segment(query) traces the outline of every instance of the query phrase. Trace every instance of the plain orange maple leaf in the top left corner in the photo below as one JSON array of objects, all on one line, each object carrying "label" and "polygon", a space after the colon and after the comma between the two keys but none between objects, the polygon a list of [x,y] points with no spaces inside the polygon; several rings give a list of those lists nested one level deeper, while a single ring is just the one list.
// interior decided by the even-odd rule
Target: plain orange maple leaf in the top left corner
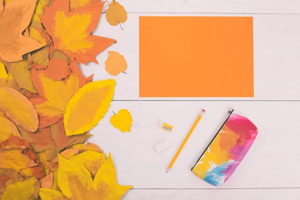
[{"label": "plain orange maple leaf in the top left corner", "polygon": [[8,62],[22,60],[22,55],[44,44],[22,35],[28,26],[36,0],[13,0],[3,7],[0,0],[0,57]]}]

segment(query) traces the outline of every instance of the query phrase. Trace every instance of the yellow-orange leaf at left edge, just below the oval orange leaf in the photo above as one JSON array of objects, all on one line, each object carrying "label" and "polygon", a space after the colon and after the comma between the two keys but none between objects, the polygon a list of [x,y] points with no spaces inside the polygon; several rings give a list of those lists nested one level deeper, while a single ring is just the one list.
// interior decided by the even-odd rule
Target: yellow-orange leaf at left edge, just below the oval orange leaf
[{"label": "yellow-orange leaf at left edge, just below the oval orange leaf", "polygon": [[8,139],[10,136],[21,138],[16,126],[4,116],[0,116],[0,142]]}]

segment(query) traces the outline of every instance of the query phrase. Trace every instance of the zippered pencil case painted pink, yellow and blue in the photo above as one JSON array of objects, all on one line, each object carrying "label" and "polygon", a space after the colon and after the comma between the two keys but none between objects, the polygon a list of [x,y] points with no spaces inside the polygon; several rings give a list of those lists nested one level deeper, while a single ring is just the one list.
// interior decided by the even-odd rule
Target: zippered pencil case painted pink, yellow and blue
[{"label": "zippered pencil case painted pink, yellow and blue", "polygon": [[220,186],[234,172],[257,135],[257,127],[232,110],[191,171],[206,182]]}]

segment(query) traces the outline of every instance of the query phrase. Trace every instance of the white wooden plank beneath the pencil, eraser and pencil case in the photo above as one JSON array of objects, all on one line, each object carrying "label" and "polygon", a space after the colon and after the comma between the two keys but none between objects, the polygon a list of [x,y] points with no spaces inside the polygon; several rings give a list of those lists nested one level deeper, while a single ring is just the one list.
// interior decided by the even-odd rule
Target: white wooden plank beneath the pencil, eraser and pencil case
[{"label": "white wooden plank beneath the pencil, eraser and pencil case", "polygon": [[[134,120],[132,133],[109,124],[113,112],[126,108]],[[206,113],[196,126],[172,169],[168,162],[201,108]],[[221,188],[300,187],[300,102],[286,101],[113,101],[105,117],[91,130],[90,142],[111,152],[118,182],[135,188],[215,188],[190,168],[227,116],[235,108],[258,127],[257,138],[233,175]],[[158,125],[174,126],[169,133]],[[172,147],[158,154],[154,142],[166,138]]]}]

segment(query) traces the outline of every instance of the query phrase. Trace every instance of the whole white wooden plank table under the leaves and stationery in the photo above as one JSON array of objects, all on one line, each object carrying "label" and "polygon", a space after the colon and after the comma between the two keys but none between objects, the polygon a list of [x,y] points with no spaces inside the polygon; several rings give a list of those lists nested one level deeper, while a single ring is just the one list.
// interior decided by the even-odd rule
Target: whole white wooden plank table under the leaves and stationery
[{"label": "whole white wooden plank table under the leaves and stationery", "polygon": [[[127,60],[127,74],[110,76],[99,65],[81,66],[94,80],[115,78],[117,85],[105,117],[91,131],[91,142],[111,152],[120,184],[132,184],[123,199],[299,199],[300,197],[300,0],[119,0],[127,21],[110,26],[104,14],[94,34],[117,43]],[[107,6],[107,5],[106,5]],[[138,16],[253,16],[253,98],[139,98]],[[121,133],[109,118],[131,112],[132,133]],[[172,169],[166,166],[201,108],[206,109]],[[219,128],[230,108],[258,127],[257,138],[233,175],[221,187],[196,177],[190,168]],[[169,122],[174,131],[160,130]],[[172,147],[158,154],[152,144],[167,138]]]}]

